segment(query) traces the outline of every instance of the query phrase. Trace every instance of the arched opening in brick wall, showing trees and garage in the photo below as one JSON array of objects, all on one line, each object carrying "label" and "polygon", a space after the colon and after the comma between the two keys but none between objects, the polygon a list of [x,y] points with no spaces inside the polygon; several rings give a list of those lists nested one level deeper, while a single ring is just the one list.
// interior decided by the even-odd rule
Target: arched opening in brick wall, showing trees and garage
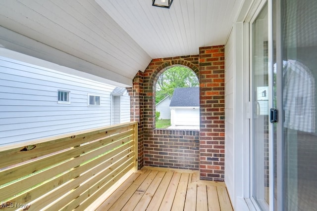
[{"label": "arched opening in brick wall, showing trees and garage", "polygon": [[167,67],[155,89],[156,128],[199,129],[199,80],[194,71]]}]

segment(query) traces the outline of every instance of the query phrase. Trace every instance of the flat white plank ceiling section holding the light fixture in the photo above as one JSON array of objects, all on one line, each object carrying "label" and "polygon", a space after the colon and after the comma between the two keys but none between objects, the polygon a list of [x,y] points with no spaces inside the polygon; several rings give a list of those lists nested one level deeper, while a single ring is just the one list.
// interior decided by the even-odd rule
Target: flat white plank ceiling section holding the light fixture
[{"label": "flat white plank ceiling section holding the light fixture", "polygon": [[96,0],[152,58],[195,55],[224,44],[241,0],[174,0],[169,9],[151,0]]}]

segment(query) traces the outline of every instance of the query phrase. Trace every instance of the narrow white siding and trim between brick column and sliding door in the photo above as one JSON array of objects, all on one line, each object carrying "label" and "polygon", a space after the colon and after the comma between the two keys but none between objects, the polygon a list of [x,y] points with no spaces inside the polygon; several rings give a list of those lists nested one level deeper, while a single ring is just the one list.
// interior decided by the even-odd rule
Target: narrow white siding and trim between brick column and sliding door
[{"label": "narrow white siding and trim between brick column and sliding door", "polygon": [[[246,112],[250,110],[248,76],[243,68],[243,23],[236,23],[225,44],[225,178],[226,187],[234,210],[248,210],[244,191],[249,185],[246,181],[245,159],[249,120]],[[239,96],[239,97],[236,97]],[[244,137],[244,134],[246,135]]]}]

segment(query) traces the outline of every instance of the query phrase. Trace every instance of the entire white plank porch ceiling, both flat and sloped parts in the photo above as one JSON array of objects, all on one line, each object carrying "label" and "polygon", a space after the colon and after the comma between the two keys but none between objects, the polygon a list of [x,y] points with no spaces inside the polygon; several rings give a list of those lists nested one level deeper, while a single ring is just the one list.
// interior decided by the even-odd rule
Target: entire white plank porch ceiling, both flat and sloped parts
[{"label": "entire white plank porch ceiling, both flat and sloped parts", "polygon": [[1,0],[0,44],[131,85],[152,58],[224,44],[242,1]]}]

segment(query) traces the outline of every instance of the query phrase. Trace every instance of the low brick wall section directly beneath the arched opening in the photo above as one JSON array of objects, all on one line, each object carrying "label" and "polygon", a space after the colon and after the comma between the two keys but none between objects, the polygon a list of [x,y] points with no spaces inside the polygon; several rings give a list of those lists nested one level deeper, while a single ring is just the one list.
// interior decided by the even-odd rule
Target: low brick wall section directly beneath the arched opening
[{"label": "low brick wall section directly beneath the arched opening", "polygon": [[144,138],[144,164],[199,169],[199,131],[154,129]]}]

